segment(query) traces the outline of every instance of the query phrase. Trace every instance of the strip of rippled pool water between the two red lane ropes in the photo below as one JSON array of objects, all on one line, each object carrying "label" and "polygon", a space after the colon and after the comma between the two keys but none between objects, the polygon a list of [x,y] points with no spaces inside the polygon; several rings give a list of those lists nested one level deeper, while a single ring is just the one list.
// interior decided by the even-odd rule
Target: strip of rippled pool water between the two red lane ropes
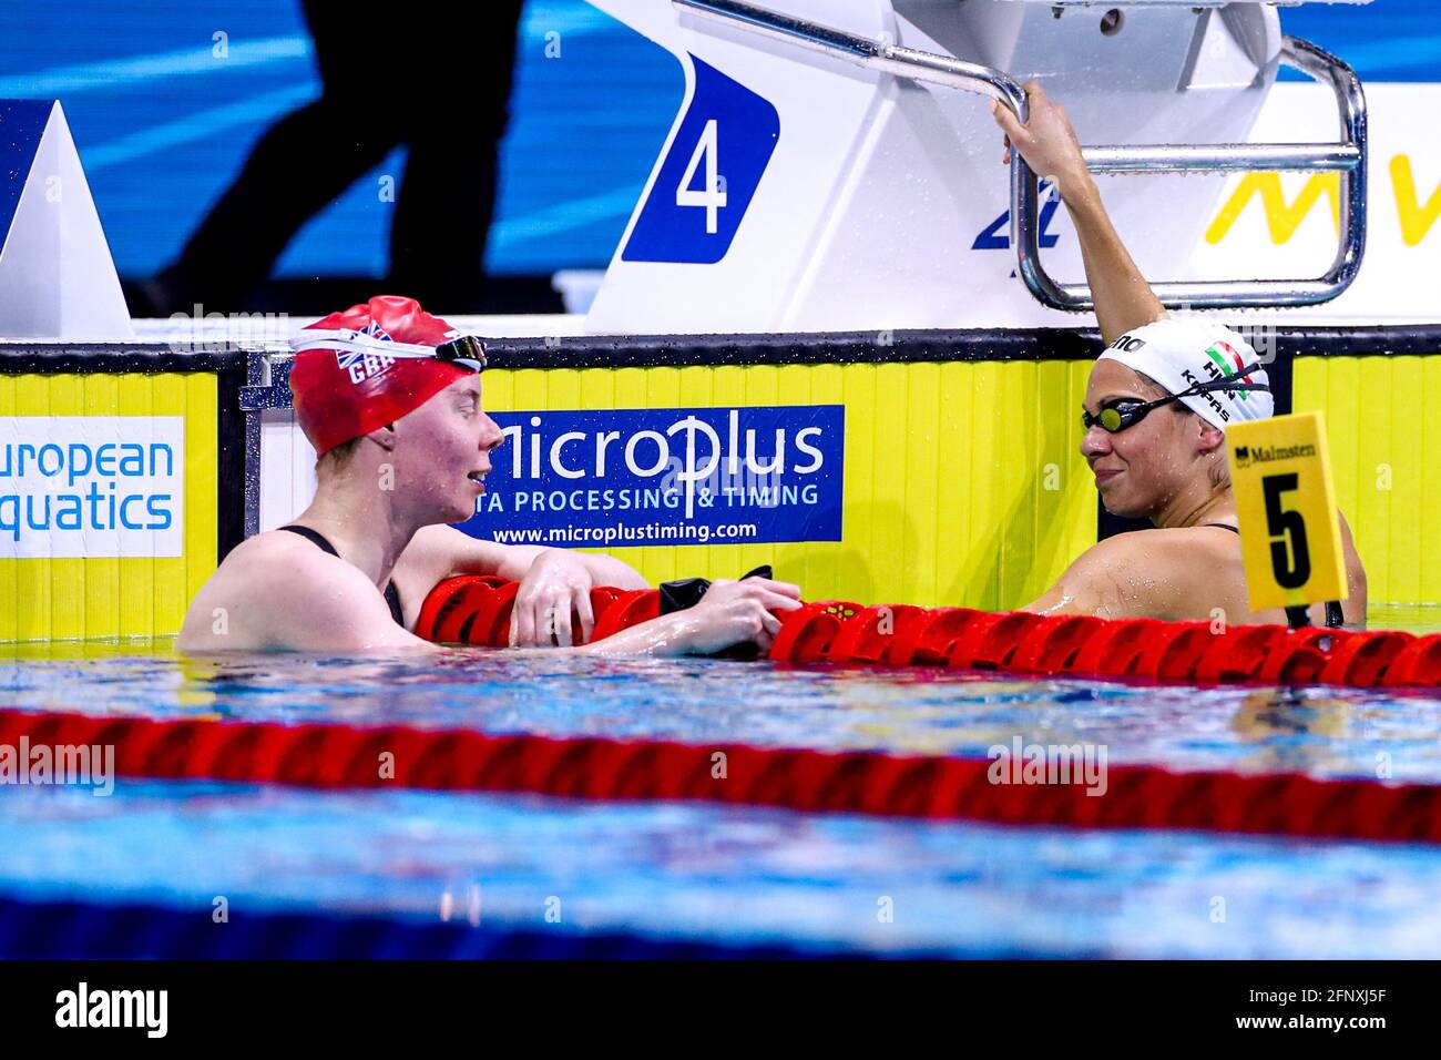
[{"label": "strip of rippled pool water between the two red lane ropes", "polygon": [[[46,653],[61,658],[36,658]],[[1102,744],[1114,764],[1441,782],[1435,694],[559,652],[184,662],[160,643],[146,653],[56,645],[27,655],[0,659],[0,705],[981,757],[1019,736]]]}]

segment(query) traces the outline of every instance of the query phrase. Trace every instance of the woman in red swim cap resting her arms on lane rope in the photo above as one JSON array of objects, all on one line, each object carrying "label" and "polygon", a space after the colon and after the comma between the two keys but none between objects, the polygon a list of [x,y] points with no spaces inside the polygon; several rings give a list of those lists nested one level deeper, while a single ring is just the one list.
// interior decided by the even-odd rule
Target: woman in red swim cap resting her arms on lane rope
[{"label": "woman in red swim cap resting her arms on lane rope", "polygon": [[769,646],[772,611],[800,590],[767,578],[716,581],[695,607],[589,645],[592,586],[644,588],[604,555],[478,541],[468,519],[500,428],[481,411],[484,349],[411,299],[382,296],[305,329],[290,385],[316,447],[316,498],[290,526],[238,545],[190,604],[177,648],[441,650],[411,633],[444,578],[520,583],[512,643],[601,653],[708,653]]}]

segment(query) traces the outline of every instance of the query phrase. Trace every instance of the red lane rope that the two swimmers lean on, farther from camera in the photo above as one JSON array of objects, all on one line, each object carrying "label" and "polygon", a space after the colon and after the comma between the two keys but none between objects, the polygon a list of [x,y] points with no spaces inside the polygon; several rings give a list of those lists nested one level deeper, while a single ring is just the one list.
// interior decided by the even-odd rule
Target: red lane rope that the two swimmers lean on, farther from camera
[{"label": "red lane rope that the two swimmers lean on, farther from camera", "polygon": [[[504,646],[516,586],[458,577],[437,586],[415,632],[442,643]],[[595,640],[656,617],[657,590],[591,590]],[[951,666],[1012,673],[1150,678],[1183,684],[1441,688],[1441,633],[1290,630],[1205,622],[1091,619],[967,607],[813,603],[781,616],[771,659]]]}]

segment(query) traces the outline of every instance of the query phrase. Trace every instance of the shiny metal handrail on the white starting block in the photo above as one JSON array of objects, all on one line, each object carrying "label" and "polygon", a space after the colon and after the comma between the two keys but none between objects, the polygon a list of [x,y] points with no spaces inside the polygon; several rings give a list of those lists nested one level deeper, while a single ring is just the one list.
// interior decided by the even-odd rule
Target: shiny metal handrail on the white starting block
[{"label": "shiny metal handrail on the white starting block", "polygon": [[[947,55],[919,52],[856,36],[830,26],[757,7],[745,0],[672,0],[695,14],[821,52],[866,69],[924,81],[999,100],[1022,123],[1029,121],[1026,92],[1004,71]],[[1235,173],[1339,172],[1340,247],[1330,270],[1317,280],[1213,280],[1151,284],[1170,307],[1246,309],[1316,306],[1350,287],[1366,252],[1366,97],[1355,71],[1316,45],[1284,37],[1278,61],[1329,84],[1336,95],[1343,140],[1320,144],[1143,144],[1082,149],[1095,173]],[[1020,151],[1012,151],[1010,241],[1016,270],[1030,293],[1050,309],[1094,309],[1085,284],[1059,284],[1040,264],[1036,175]]]}]

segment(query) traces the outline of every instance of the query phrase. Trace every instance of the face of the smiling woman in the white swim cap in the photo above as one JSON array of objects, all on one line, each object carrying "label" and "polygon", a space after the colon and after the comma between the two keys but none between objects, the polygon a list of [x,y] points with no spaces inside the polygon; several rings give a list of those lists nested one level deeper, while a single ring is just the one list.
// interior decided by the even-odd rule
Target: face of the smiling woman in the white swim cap
[{"label": "face of the smiling woman in the white swim cap", "polygon": [[[1095,417],[1115,401],[1146,404],[1166,392],[1125,365],[1102,359],[1091,369],[1085,412]],[[1081,440],[1101,503],[1112,515],[1159,512],[1200,469],[1219,457],[1225,436],[1179,402],[1157,407],[1117,433],[1094,423]]]}]

